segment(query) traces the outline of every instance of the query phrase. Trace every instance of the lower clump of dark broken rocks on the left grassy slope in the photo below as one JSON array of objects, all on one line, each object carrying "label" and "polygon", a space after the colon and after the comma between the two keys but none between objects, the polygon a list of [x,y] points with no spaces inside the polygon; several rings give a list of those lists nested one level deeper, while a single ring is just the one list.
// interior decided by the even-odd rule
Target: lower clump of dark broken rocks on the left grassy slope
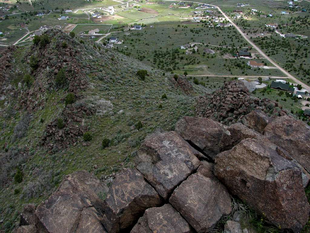
[{"label": "lower clump of dark broken rocks on the left grassy slope", "polygon": [[[83,118],[95,113],[95,106],[82,101],[66,105],[59,118],[47,124],[41,143],[49,147],[50,153],[55,147],[59,149],[76,143],[77,138],[88,130],[82,124]],[[62,127],[59,126],[59,119],[63,121]]]}]

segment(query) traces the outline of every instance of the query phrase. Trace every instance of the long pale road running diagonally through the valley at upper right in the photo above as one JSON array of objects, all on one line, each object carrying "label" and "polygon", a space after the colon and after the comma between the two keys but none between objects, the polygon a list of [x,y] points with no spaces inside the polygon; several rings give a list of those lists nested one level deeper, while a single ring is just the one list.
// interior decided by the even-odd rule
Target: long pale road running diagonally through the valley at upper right
[{"label": "long pale road running diagonally through the valley at upper right", "polygon": [[[169,1],[169,2],[179,2],[177,0],[163,0],[163,1]],[[183,1],[183,2],[191,2],[191,1]],[[202,2],[194,2],[194,3],[198,3],[198,4],[204,4]],[[237,31],[242,35],[242,37],[253,47],[255,48],[261,55],[263,55],[263,57],[265,57],[270,63],[272,63],[272,65],[276,66],[282,73],[284,73],[285,75],[287,75],[288,78],[290,78],[291,80],[293,80],[295,83],[302,85],[305,89],[307,89],[308,91],[310,91],[310,86],[307,84],[304,84],[303,82],[299,81],[298,79],[296,79],[293,75],[291,75],[289,72],[287,72],[285,69],[283,69],[281,66],[279,66],[276,62],[274,62],[271,58],[269,58],[258,46],[256,46],[255,43],[253,43],[249,38],[246,37],[245,34],[243,34],[243,32],[241,31],[241,29],[233,22],[230,20],[230,18],[228,18],[228,16],[221,10],[221,8],[219,8],[218,6],[215,5],[211,5],[210,6],[216,7],[219,12],[221,12],[221,14],[225,17],[226,20],[228,20],[236,29]],[[207,76],[207,75],[206,75]]]}]

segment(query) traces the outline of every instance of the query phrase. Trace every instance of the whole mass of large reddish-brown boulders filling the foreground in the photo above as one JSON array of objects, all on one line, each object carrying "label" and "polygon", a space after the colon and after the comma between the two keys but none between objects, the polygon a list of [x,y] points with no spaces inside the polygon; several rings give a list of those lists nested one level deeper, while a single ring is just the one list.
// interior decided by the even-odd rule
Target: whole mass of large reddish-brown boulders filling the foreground
[{"label": "whole mass of large reddish-brown boulders filling the foreground", "polygon": [[25,206],[20,233],[205,233],[233,216],[224,232],[241,229],[232,197],[281,230],[308,222],[310,127],[254,110],[225,126],[183,117],[175,131],[146,137],[135,168],[109,185],[86,171],[61,182],[37,207]]}]

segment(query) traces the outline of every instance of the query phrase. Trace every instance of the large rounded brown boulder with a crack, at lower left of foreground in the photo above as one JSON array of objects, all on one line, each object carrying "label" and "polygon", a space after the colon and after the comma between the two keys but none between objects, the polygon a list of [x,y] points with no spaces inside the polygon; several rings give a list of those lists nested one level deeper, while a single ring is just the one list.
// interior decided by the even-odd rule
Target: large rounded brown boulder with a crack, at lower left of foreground
[{"label": "large rounded brown boulder with a crack, at lower left of foreground", "polygon": [[[40,228],[48,233],[99,232],[92,228],[101,224],[101,214],[94,207],[104,209],[104,201],[97,195],[107,191],[100,180],[86,171],[68,175],[55,193],[37,207]],[[87,220],[91,226],[83,231],[80,221],[86,218],[86,212],[93,214]]]}]

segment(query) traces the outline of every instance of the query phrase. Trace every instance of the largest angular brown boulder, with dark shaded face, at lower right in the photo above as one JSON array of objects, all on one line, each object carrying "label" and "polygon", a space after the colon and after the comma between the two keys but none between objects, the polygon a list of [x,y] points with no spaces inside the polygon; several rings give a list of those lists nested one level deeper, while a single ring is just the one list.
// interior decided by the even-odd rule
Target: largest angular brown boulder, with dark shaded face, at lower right
[{"label": "largest angular brown boulder, with dark shaded face, at lower right", "polygon": [[242,140],[215,159],[215,175],[275,226],[299,232],[308,221],[309,204],[302,172],[281,156],[276,145]]}]

